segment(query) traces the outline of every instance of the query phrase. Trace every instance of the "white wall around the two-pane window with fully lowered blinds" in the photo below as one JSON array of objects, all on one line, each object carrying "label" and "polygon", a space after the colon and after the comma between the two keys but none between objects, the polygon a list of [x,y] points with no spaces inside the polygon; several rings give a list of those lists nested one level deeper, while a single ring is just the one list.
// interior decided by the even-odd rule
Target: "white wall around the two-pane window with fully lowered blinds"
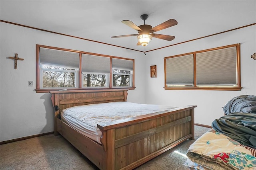
[{"label": "white wall around the two-pane window with fully lowered blinds", "polygon": [[[197,105],[195,123],[211,125],[214,119],[223,115],[222,106],[231,98],[243,94],[256,95],[256,60],[250,57],[256,52],[255,30],[256,25],[148,53],[146,103],[171,106]],[[236,43],[241,44],[241,91],[164,90],[164,57]],[[157,78],[150,78],[150,65],[155,64]]]}]

